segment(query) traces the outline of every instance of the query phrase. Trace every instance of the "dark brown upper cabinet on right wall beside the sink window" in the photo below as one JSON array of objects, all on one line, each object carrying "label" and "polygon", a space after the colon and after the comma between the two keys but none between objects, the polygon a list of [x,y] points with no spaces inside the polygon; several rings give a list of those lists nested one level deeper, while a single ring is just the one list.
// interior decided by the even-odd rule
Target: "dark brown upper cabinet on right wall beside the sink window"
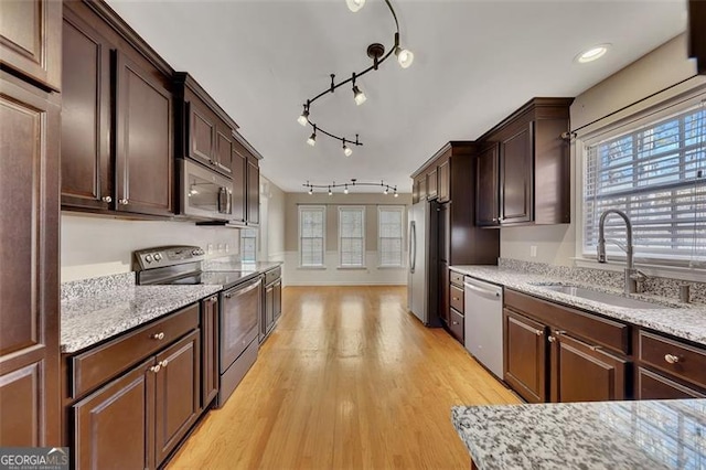
[{"label": "dark brown upper cabinet on right wall beside the sink window", "polygon": [[569,145],[561,133],[569,130],[573,100],[534,98],[481,138],[489,150],[479,162],[478,225],[570,222]]}]

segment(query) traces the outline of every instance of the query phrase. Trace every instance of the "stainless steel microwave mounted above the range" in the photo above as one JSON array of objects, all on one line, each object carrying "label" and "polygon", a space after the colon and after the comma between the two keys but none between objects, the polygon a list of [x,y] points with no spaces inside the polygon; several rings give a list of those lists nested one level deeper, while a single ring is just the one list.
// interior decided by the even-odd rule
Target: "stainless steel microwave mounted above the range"
[{"label": "stainless steel microwave mounted above the range", "polygon": [[233,181],[185,159],[179,159],[180,211],[199,218],[229,221],[233,217]]}]

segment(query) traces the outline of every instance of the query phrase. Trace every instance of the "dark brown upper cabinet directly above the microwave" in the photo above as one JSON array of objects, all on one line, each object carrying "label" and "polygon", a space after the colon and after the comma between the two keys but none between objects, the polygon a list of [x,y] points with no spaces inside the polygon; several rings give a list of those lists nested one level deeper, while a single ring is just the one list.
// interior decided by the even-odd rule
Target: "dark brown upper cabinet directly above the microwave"
[{"label": "dark brown upper cabinet directly above the microwave", "polygon": [[237,171],[233,160],[233,132],[238,128],[237,124],[188,73],[174,74],[174,85],[180,130],[176,154],[226,177],[233,175]]}]

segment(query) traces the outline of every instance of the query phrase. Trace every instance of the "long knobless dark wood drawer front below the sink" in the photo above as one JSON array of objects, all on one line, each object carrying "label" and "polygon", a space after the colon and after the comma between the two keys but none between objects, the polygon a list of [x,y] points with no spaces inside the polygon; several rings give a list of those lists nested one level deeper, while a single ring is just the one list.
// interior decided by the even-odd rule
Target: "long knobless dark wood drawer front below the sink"
[{"label": "long knobless dark wood drawer front below the sink", "polygon": [[630,354],[630,327],[592,313],[537,299],[512,289],[505,289],[505,307],[522,312],[548,325],[571,332],[613,351]]}]

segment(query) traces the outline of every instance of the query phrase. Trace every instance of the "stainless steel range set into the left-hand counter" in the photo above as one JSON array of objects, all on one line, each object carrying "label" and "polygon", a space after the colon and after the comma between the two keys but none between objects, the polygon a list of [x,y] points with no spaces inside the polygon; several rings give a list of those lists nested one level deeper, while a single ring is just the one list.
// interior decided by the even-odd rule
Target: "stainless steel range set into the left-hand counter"
[{"label": "stainless steel range set into the left-hand counter", "polygon": [[263,277],[257,271],[203,271],[199,246],[159,246],[132,254],[138,285],[222,285],[218,312],[221,407],[257,359]]}]

